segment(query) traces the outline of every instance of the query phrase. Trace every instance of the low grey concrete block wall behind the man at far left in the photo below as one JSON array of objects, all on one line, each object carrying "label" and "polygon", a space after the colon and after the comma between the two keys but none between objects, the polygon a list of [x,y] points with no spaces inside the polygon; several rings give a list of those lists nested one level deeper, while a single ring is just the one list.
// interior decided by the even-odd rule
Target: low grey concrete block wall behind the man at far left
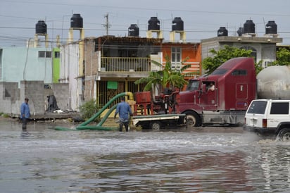
[{"label": "low grey concrete block wall behind the man at far left", "polygon": [[0,82],[0,112],[20,116],[20,105],[25,97],[30,99],[30,113],[41,118],[46,114],[47,96],[54,95],[61,110],[71,110],[69,106],[68,83],[55,83],[51,89],[44,88],[43,81]]}]

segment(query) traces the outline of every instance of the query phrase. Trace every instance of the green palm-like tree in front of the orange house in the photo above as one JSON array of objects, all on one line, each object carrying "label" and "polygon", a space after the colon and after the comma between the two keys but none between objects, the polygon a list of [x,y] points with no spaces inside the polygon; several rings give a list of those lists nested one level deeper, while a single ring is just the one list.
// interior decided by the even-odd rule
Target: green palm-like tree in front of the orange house
[{"label": "green palm-like tree in front of the orange house", "polygon": [[181,88],[184,85],[187,85],[187,80],[184,80],[185,75],[193,74],[193,73],[183,73],[184,70],[190,68],[191,65],[187,64],[184,65],[189,58],[185,58],[182,61],[182,68],[172,68],[172,63],[170,61],[169,56],[165,56],[165,66],[157,61],[151,61],[152,63],[156,64],[157,66],[163,68],[162,70],[158,70],[157,72],[151,71],[148,77],[142,77],[139,80],[136,80],[134,83],[139,85],[141,83],[147,83],[144,87],[144,91],[149,91],[152,87],[156,85],[160,85],[163,88],[165,87],[177,87]]}]

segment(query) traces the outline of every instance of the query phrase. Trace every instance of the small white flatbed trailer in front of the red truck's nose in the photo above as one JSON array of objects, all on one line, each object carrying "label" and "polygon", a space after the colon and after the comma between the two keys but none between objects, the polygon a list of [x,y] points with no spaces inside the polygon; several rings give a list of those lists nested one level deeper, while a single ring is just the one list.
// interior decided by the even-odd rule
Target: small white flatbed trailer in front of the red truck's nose
[{"label": "small white flatbed trailer in front of the red truck's nose", "polygon": [[149,116],[133,116],[132,123],[145,129],[160,130],[162,127],[185,125],[185,114],[158,114]]}]

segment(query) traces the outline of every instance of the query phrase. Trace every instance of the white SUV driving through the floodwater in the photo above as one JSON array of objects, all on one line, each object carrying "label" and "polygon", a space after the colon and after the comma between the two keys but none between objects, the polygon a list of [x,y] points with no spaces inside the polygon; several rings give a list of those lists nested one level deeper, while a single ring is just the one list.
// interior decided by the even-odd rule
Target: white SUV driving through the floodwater
[{"label": "white SUV driving through the floodwater", "polygon": [[282,141],[290,141],[290,100],[253,100],[246,111],[244,128],[261,134],[274,133]]}]

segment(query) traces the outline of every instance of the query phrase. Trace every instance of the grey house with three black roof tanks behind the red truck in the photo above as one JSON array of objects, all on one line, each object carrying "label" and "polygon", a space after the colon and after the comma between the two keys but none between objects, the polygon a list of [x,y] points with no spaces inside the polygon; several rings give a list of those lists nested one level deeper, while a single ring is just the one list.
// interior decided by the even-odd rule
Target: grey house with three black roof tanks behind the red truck
[{"label": "grey house with three black roof tanks behind the red truck", "polygon": [[277,24],[269,21],[265,26],[265,35],[258,37],[253,20],[246,20],[244,27],[240,27],[236,36],[229,36],[226,27],[217,30],[217,37],[201,39],[202,59],[211,56],[210,49],[219,50],[223,46],[234,46],[240,49],[252,50],[256,63],[263,61],[262,66],[276,60],[277,44],[282,38],[277,34]]}]

